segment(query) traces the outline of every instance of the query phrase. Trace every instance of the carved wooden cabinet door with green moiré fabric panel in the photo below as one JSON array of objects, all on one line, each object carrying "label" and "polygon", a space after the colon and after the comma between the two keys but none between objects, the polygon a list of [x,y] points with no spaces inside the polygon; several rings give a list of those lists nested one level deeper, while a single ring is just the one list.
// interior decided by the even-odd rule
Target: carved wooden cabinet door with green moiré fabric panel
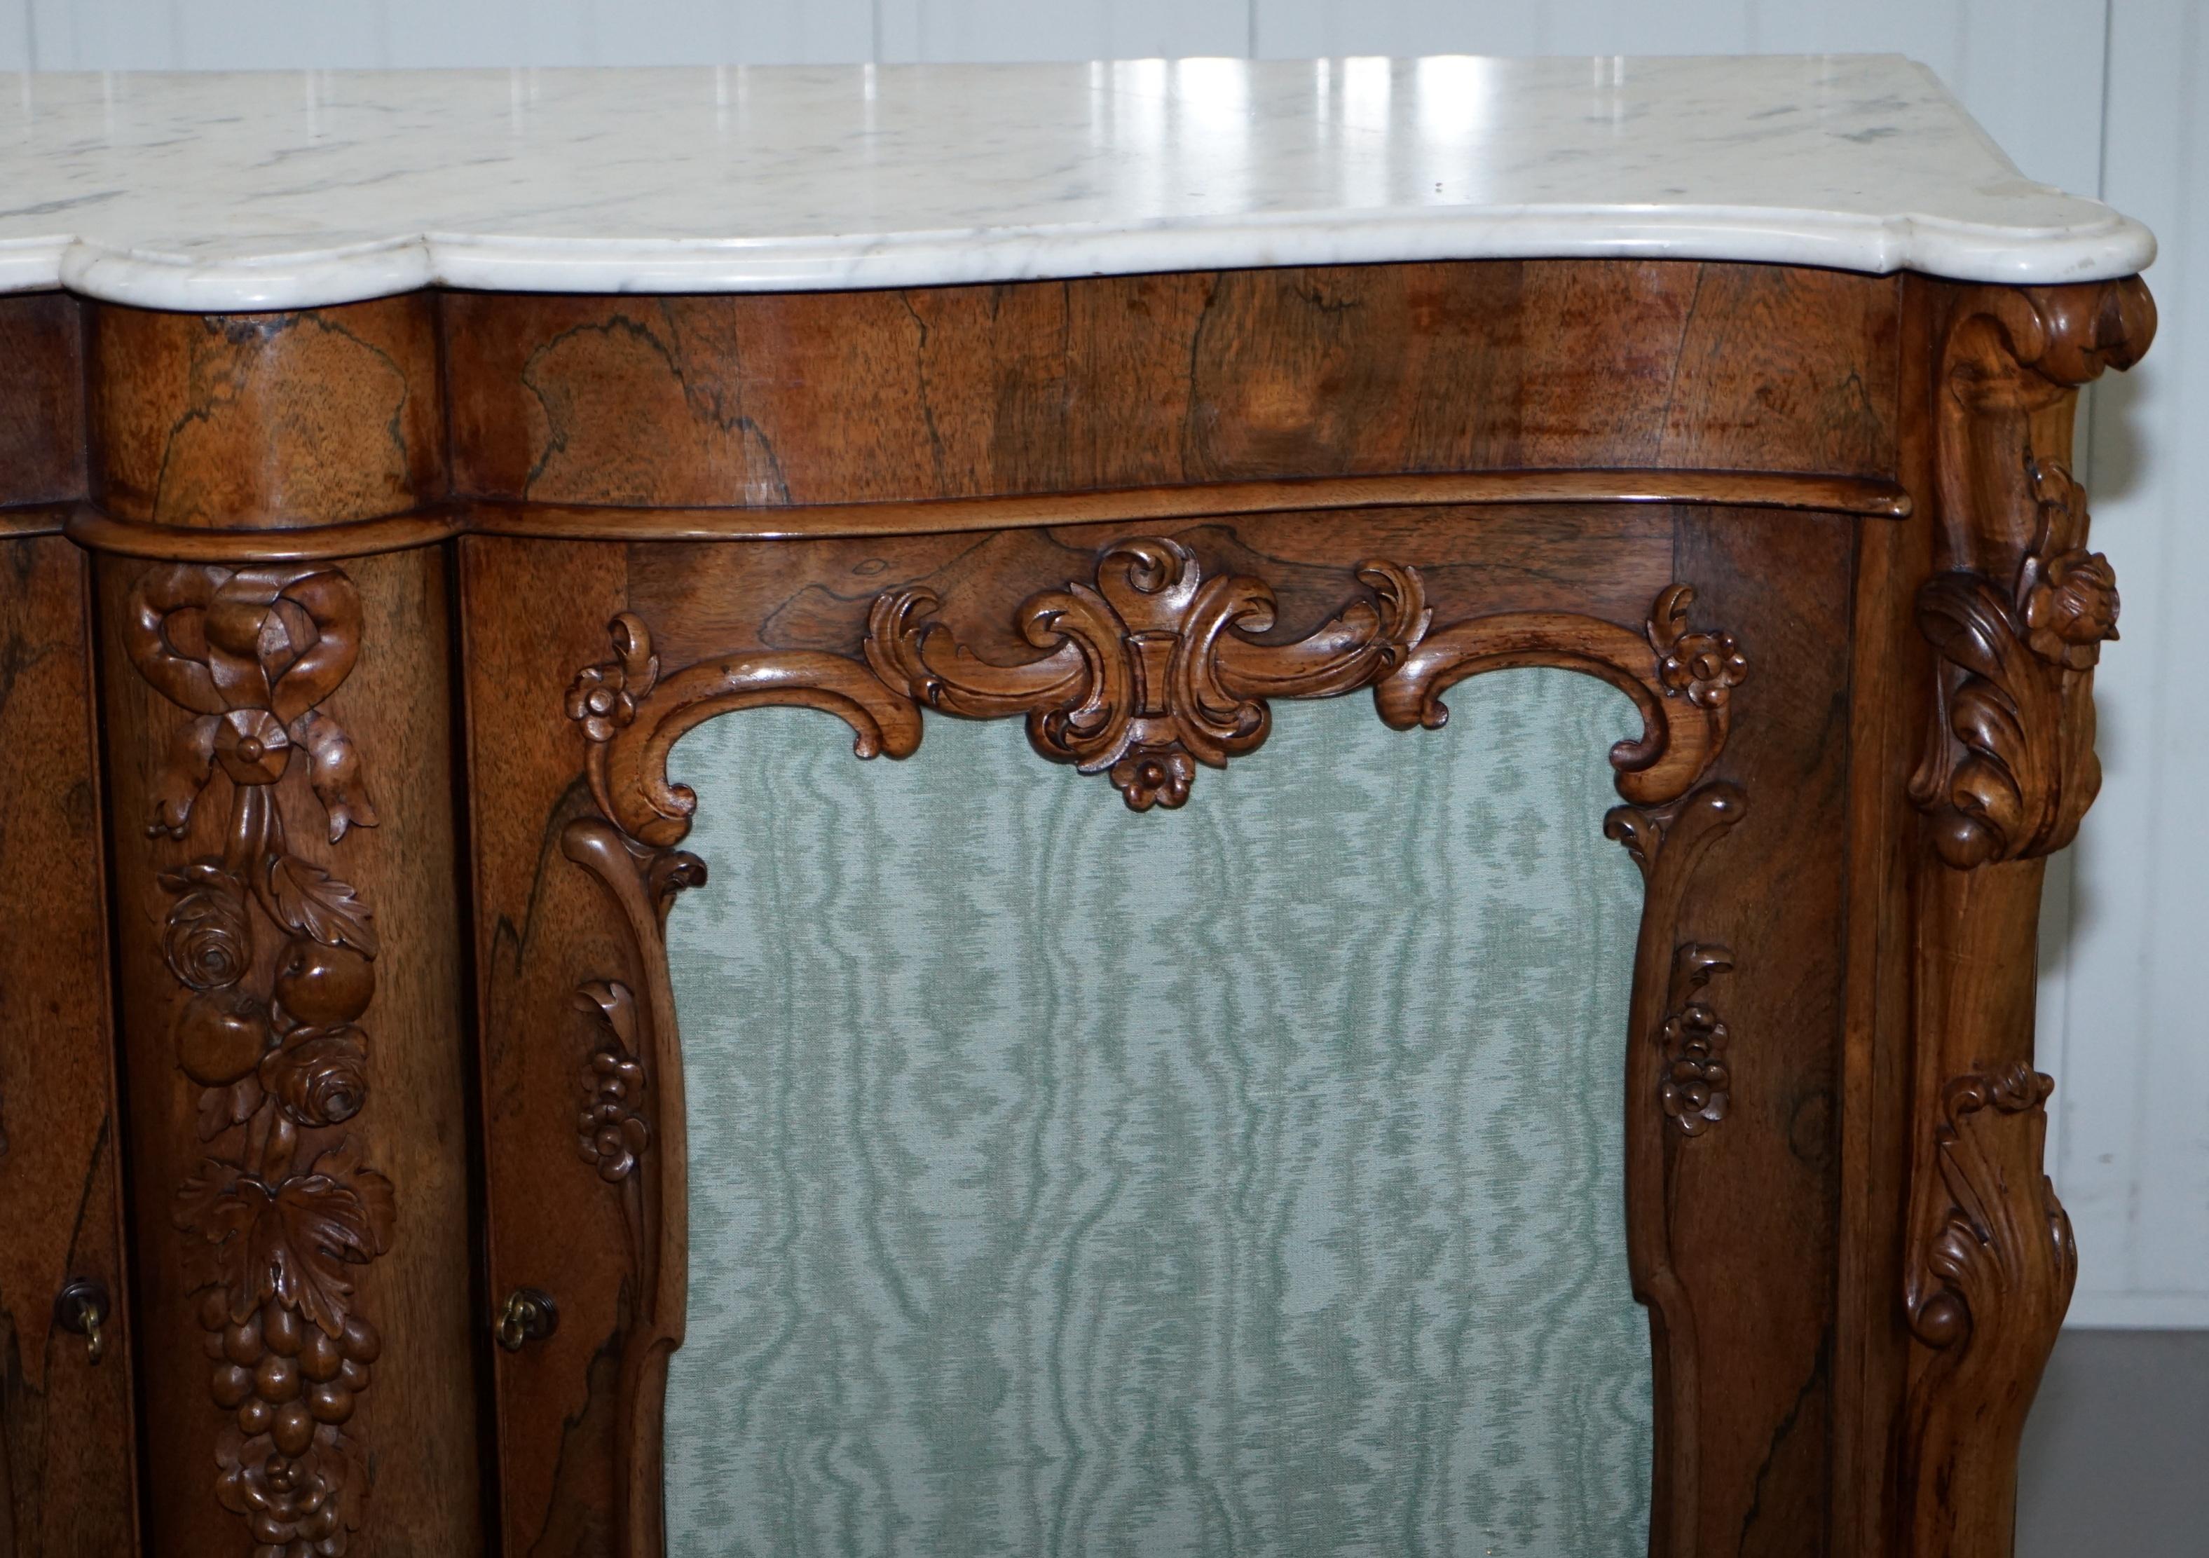
[{"label": "carved wooden cabinet door with green moir\u00e9 fabric panel", "polygon": [[468,537],[508,1549],[1818,1534],[1853,524]]}]

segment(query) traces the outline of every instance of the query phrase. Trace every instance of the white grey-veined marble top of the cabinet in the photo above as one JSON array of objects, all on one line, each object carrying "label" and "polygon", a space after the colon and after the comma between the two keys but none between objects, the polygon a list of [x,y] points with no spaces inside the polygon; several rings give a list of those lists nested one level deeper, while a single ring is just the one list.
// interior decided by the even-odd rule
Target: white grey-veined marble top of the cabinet
[{"label": "white grey-veined marble top of the cabinet", "polygon": [[1491,256],[2090,281],[1898,55],[24,75],[0,290],[254,309]]}]

